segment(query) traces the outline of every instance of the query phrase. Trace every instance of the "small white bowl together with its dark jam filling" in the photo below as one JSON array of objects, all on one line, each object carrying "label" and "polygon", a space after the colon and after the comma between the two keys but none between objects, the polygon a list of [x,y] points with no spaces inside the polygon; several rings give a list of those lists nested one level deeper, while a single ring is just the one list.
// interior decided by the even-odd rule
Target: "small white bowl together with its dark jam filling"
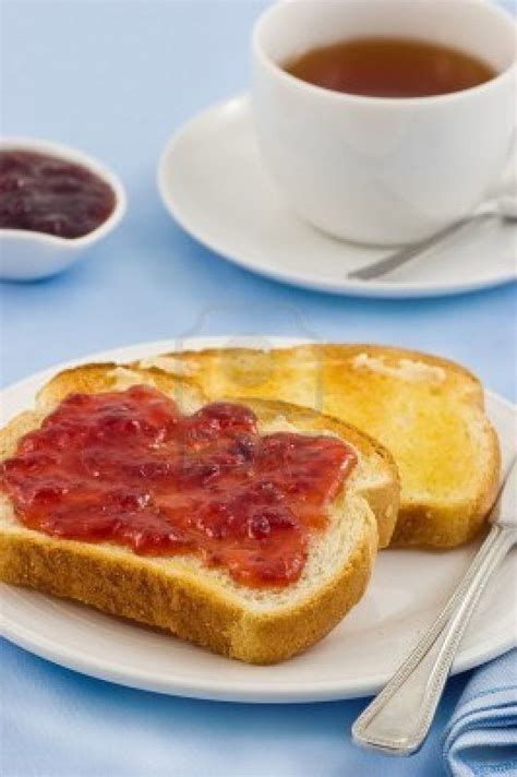
[{"label": "small white bowl together with its dark jam filling", "polygon": [[44,141],[0,144],[0,277],[64,270],[125,211],[118,178],[95,159]]}]

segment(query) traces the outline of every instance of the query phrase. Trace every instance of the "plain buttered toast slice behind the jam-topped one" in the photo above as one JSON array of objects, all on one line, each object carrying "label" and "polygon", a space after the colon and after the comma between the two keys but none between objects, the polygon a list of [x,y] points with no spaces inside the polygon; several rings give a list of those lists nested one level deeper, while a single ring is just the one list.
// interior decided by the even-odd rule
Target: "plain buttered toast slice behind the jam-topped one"
[{"label": "plain buttered toast slice behind the jam-topped one", "polygon": [[501,457],[483,390],[452,361],[386,346],[314,344],[183,351],[146,363],[195,378],[208,396],[313,407],[377,439],[400,473],[394,545],[460,545],[480,530],[495,499]]}]

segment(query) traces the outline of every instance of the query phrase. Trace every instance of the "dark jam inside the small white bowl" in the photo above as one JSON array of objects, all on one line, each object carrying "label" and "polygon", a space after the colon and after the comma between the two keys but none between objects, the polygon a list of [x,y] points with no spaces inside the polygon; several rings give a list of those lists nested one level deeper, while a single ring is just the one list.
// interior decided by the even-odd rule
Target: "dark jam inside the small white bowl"
[{"label": "dark jam inside the small white bowl", "polygon": [[111,187],[81,165],[0,151],[0,229],[80,238],[106,222],[115,204]]}]

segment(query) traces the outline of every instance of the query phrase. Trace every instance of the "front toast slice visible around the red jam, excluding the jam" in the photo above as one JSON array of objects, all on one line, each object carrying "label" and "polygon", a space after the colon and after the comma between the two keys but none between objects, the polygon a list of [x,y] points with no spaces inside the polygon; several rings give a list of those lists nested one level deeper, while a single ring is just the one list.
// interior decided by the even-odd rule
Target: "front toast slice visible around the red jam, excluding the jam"
[{"label": "front toast slice visible around the red jam, excluding the jam", "polygon": [[[195,383],[159,369],[79,367],[58,374],[41,390],[34,410],[3,429],[2,462],[71,394],[122,392],[141,384],[172,397],[183,414],[206,404]],[[294,583],[257,589],[192,553],[144,557],[116,542],[49,536],[27,528],[4,493],[0,578],[169,630],[249,662],[279,661],[322,638],[365,589],[377,548],[377,522],[387,533],[398,507],[396,468],[382,446],[340,421],[279,402],[245,401],[245,406],[255,414],[261,435],[332,435],[357,457],[333,498],[325,528],[310,538],[305,565]]]}]

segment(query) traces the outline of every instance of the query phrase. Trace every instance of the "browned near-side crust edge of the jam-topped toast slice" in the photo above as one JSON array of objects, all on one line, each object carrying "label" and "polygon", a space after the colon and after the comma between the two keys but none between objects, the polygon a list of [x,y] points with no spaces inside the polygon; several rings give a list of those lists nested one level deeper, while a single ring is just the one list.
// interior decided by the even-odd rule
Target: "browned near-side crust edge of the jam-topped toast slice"
[{"label": "browned near-side crust edge of the jam-topped toast slice", "polygon": [[158,626],[249,664],[275,664],[323,638],[363,595],[376,552],[371,513],[339,574],[280,613],[250,613],[183,571],[166,573],[134,554],[112,557],[85,542],[0,531],[0,578]]}]

